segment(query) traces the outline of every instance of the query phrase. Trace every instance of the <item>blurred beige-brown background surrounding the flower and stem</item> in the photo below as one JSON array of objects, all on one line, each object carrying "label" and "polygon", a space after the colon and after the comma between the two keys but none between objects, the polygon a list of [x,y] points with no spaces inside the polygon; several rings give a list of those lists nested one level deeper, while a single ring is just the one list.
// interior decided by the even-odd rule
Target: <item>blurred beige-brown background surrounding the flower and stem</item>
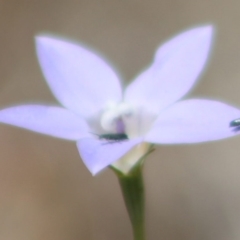
[{"label": "blurred beige-brown background surrounding the flower and stem", "polygon": [[[57,104],[34,36],[88,44],[129,81],[157,46],[212,23],[213,52],[189,97],[240,106],[238,0],[0,0],[0,108]],[[148,240],[240,238],[240,137],[159,146],[145,165]],[[74,142],[0,126],[0,240],[131,240],[116,177],[87,171]]]}]

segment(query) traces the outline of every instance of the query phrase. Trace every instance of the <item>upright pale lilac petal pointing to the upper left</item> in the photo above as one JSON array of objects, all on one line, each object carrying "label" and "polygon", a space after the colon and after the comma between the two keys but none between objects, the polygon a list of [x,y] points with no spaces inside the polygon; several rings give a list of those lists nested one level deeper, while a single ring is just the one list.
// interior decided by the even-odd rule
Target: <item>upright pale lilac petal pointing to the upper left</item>
[{"label": "upright pale lilac petal pointing to the upper left", "polygon": [[121,86],[112,68],[87,48],[57,38],[36,38],[45,78],[66,108],[88,117],[108,101],[121,99]]}]

